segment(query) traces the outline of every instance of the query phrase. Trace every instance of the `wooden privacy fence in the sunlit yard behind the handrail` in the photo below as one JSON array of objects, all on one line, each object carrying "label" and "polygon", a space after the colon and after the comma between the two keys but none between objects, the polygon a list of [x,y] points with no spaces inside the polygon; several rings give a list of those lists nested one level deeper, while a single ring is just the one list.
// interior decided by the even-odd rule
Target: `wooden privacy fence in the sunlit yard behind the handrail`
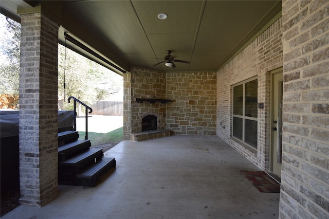
[{"label": "wooden privacy fence in the sunlit yard behind the handrail", "polygon": [[123,102],[120,101],[96,101],[93,105],[94,115],[123,116]]}]

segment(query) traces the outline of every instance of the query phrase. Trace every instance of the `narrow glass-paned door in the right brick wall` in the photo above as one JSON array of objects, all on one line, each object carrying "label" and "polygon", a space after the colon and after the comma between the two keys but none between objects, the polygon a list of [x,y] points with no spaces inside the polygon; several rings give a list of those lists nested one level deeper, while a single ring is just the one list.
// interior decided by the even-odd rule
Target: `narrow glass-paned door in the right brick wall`
[{"label": "narrow glass-paned door in the right brick wall", "polygon": [[271,171],[281,177],[282,162],[282,70],[272,74]]}]

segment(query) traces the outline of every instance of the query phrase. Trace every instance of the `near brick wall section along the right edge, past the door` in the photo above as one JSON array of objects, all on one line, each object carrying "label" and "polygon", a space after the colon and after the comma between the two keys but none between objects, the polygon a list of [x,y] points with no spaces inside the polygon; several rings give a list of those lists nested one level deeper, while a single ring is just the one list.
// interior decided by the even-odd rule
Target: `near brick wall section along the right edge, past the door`
[{"label": "near brick wall section along the right edge, past the door", "polygon": [[329,2],[283,1],[280,218],[329,218]]}]

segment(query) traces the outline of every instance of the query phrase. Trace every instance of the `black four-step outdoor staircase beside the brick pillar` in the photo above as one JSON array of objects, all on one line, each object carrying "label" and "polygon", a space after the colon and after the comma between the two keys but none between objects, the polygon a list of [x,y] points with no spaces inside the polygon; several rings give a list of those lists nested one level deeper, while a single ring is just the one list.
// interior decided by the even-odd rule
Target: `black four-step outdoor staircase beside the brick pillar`
[{"label": "black four-step outdoor staircase beside the brick pillar", "polygon": [[115,158],[103,157],[102,149],[90,145],[87,130],[85,140],[75,130],[58,133],[58,184],[94,187],[103,173],[116,167]]}]

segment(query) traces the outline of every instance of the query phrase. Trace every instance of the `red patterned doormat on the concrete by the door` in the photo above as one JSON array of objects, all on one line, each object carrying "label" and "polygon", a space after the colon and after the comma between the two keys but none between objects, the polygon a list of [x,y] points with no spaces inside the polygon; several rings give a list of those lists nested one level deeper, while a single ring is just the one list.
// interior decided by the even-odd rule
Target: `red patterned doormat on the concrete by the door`
[{"label": "red patterned doormat on the concrete by the door", "polygon": [[264,171],[247,171],[240,170],[240,172],[249,179],[249,181],[260,192],[280,193],[280,184],[273,180]]}]

